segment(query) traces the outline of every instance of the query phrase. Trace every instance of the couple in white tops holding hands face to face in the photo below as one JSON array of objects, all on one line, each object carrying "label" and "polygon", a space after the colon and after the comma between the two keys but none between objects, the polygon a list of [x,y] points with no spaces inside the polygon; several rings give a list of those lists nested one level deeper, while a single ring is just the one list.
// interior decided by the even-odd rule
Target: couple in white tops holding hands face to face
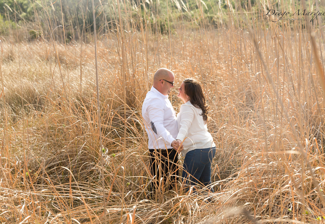
[{"label": "couple in white tops holding hands face to face", "polygon": [[201,85],[194,79],[185,79],[177,96],[184,101],[180,112],[168,99],[174,87],[174,73],[166,68],[157,70],[153,86],[142,105],[142,117],[149,138],[152,190],[170,190],[176,186],[178,152],[185,156],[183,183],[191,186],[211,187],[211,161],[215,144],[207,130],[208,106]]}]

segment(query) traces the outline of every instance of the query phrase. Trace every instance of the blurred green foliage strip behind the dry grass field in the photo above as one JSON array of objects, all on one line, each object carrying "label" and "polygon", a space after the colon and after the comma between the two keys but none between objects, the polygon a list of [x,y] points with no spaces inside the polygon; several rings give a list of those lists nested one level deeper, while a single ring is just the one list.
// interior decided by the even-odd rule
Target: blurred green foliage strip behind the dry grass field
[{"label": "blurred green foliage strip behind the dry grass field", "polygon": [[[325,11],[322,1],[306,2],[307,10]],[[189,29],[231,27],[251,28],[246,24],[270,22],[267,10],[279,12],[301,8],[290,0],[95,0],[98,35],[124,30],[168,34],[175,27]],[[93,32],[92,0],[2,0],[0,35],[19,40],[36,38],[71,41],[91,39]],[[121,17],[121,20],[120,20]],[[323,24],[320,18],[319,24]],[[252,23],[253,22],[253,23]],[[63,30],[64,27],[64,30]],[[17,32],[18,31],[18,32]]]}]

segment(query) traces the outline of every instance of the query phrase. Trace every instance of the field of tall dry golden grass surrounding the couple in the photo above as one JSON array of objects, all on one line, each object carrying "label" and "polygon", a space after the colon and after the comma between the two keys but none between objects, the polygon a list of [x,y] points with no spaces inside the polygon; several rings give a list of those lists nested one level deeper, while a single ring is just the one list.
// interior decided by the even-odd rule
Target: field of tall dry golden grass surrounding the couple
[{"label": "field of tall dry golden grass surrounding the couple", "polygon": [[[91,36],[3,38],[0,223],[324,223],[324,18],[257,8],[168,34],[120,20],[96,51]],[[160,67],[175,73],[176,113],[182,80],[202,84],[214,194],[150,194],[141,106]]]}]

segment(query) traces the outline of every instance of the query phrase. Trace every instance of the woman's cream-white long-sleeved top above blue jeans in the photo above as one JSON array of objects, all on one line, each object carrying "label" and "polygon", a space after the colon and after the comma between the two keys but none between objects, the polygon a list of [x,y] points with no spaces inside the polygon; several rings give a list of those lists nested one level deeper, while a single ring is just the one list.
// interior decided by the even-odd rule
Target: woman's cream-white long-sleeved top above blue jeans
[{"label": "woman's cream-white long-sleeved top above blue jeans", "polygon": [[181,105],[180,112],[177,114],[179,130],[176,139],[182,142],[185,139],[184,149],[181,151],[182,156],[196,148],[215,147],[201,114],[202,110],[192,105],[190,101]]}]

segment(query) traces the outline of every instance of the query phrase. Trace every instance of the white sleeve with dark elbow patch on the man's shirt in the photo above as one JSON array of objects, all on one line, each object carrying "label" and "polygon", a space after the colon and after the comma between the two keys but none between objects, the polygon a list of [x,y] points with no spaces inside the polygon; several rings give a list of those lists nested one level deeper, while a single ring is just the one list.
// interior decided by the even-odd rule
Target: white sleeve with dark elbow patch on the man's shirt
[{"label": "white sleeve with dark elbow patch on the man's shirt", "polygon": [[154,133],[158,135],[158,137],[162,137],[168,144],[171,146],[172,142],[175,140],[169,131],[164,127],[164,102],[152,102],[147,108],[147,112],[149,115],[149,120],[151,125],[151,129]]}]

